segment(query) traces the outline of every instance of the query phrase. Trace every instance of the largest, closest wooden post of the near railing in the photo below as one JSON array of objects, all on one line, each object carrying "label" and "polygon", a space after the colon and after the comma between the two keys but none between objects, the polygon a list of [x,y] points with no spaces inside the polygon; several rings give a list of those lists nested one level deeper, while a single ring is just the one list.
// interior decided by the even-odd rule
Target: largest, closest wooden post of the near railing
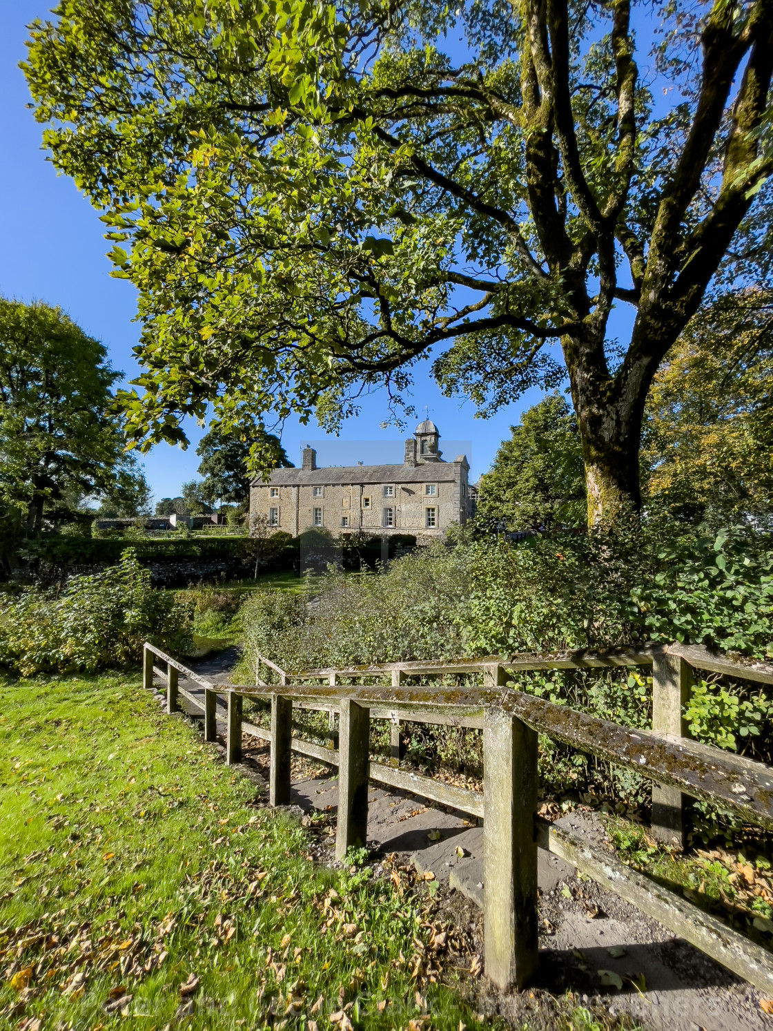
[{"label": "largest, closest wooden post of the near railing", "polygon": [[523,988],[537,968],[537,732],[499,708],[483,718],[485,973]]}]

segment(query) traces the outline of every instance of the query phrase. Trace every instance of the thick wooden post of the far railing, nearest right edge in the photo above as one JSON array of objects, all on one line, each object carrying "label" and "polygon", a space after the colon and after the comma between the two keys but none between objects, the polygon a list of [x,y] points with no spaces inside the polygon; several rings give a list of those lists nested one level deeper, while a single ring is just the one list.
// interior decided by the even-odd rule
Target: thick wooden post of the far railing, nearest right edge
[{"label": "thick wooden post of the far railing, nearest right edge", "polygon": [[[675,655],[652,657],[652,730],[690,737],[684,710],[693,690],[693,667]],[[684,847],[684,803],[678,788],[652,785],[652,837]]]}]

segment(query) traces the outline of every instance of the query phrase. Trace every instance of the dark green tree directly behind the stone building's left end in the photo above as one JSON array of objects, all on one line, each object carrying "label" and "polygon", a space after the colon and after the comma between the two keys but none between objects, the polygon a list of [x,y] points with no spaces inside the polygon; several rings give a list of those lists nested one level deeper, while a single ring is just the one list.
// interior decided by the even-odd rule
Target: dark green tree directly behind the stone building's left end
[{"label": "dark green tree directly behind the stone building's left end", "polygon": [[257,452],[262,456],[263,468],[293,468],[281,441],[273,433],[254,430],[240,436],[237,432],[212,426],[196,448],[196,454],[201,456],[199,472],[204,477],[206,496],[236,504],[247,501],[250,480],[247,459]]}]

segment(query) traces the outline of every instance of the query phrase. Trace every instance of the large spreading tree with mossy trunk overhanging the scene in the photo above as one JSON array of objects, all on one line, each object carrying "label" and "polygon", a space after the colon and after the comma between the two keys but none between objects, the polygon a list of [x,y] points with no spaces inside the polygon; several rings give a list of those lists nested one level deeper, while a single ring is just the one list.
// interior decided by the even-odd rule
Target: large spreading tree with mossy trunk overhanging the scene
[{"label": "large spreading tree with mossy trunk overhanging the scene", "polygon": [[56,13],[26,72],[55,164],[131,243],[138,440],[213,399],[336,425],[433,354],[484,413],[568,373],[590,522],[638,507],[658,367],[769,273],[771,0]]}]

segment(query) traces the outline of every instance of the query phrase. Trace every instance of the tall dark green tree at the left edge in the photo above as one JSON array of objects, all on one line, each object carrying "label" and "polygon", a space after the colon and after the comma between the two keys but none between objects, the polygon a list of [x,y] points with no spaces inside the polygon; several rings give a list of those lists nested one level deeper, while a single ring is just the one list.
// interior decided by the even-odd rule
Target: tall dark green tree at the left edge
[{"label": "tall dark green tree at the left edge", "polygon": [[61,308],[0,299],[0,505],[28,534],[65,497],[138,489],[112,410],[120,375]]}]

